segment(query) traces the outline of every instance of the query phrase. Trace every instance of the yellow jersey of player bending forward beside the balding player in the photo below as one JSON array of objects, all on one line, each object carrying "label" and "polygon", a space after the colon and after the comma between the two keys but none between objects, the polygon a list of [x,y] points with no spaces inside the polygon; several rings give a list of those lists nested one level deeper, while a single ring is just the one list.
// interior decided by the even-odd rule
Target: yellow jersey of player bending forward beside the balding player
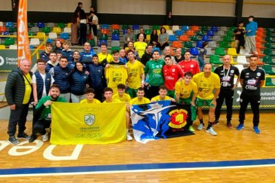
[{"label": "yellow jersey of player bending forward beside the balding player", "polygon": [[184,83],[185,81],[182,80],[181,82],[176,82],[175,84],[175,94],[179,94],[179,98],[181,99],[188,99],[191,93],[197,93],[197,84],[192,80],[188,85]]}]

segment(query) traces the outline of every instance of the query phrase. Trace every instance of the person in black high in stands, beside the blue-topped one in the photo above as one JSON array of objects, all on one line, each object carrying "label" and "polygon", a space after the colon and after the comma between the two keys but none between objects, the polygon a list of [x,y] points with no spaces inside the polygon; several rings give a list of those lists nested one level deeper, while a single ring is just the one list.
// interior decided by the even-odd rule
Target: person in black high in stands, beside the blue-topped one
[{"label": "person in black high in stands, beside the blue-topped one", "polygon": [[234,29],[235,41],[234,47],[236,48],[236,53],[240,53],[241,48],[245,48],[245,29],[243,29],[243,21],[238,23],[238,27]]}]

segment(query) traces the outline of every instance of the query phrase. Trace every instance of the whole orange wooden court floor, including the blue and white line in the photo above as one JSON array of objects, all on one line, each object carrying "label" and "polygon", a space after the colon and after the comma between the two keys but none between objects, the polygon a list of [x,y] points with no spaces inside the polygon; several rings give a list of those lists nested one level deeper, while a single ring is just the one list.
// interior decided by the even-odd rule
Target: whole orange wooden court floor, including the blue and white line
[{"label": "whole orange wooden court floor, including the blue and white line", "polygon": [[[42,143],[41,137],[36,143],[7,145],[8,122],[0,121],[0,182],[275,182],[275,114],[261,114],[261,134],[253,132],[250,113],[242,131],[229,129],[224,119],[222,114],[214,126],[217,136],[196,130],[195,135],[146,144],[78,147]],[[232,125],[237,124],[233,114]],[[28,121],[28,134],[31,125]],[[38,144],[35,151],[20,154]],[[54,160],[71,156],[75,148],[76,160]]]}]

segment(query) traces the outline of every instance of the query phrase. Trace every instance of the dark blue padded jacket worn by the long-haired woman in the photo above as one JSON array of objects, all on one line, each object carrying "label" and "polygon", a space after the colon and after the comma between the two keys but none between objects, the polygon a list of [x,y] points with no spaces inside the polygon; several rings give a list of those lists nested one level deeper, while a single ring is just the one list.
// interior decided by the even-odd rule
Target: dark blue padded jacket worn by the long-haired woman
[{"label": "dark blue padded jacket worn by the long-haired woman", "polygon": [[74,95],[84,95],[89,76],[84,72],[75,71],[70,76],[71,93]]}]

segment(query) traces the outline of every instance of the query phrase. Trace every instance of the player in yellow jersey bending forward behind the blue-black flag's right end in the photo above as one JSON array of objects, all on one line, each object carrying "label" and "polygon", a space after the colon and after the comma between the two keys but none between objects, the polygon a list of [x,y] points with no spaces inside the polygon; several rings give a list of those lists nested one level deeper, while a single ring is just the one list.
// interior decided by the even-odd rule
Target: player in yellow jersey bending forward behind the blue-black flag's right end
[{"label": "player in yellow jersey bending forward behind the blue-black flag's right end", "polygon": [[[192,81],[192,73],[191,72],[187,72],[184,73],[184,80],[178,81],[175,85],[175,95],[176,95],[176,101],[177,103],[182,103],[182,104],[186,104],[186,105],[192,105],[195,108],[195,99],[197,96],[197,84],[195,82]],[[192,114],[191,110],[191,115],[195,115]],[[192,127],[192,119],[191,119],[191,123],[188,124],[188,130],[190,130],[190,132],[195,132],[194,128]]]}]

